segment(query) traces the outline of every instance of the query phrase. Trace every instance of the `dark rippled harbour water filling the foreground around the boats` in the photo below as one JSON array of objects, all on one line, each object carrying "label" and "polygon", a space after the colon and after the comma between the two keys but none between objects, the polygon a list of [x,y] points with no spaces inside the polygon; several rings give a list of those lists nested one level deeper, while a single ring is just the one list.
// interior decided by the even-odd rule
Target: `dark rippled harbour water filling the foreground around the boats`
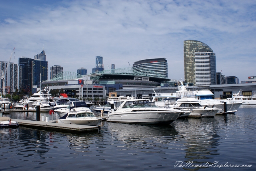
[{"label": "dark rippled harbour water filling the foreground around the boats", "polygon": [[[36,119],[36,113],[3,116]],[[255,147],[256,107],[252,106],[241,106],[234,115],[177,119],[168,126],[102,121],[100,133],[80,135],[20,126],[0,129],[0,171],[253,171]]]}]

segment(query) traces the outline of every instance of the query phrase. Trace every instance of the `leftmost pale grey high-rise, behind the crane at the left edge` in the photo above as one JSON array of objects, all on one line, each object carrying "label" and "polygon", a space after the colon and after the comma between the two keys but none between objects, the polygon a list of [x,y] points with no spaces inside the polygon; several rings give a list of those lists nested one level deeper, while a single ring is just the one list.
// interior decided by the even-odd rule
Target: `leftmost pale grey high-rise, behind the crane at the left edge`
[{"label": "leftmost pale grey high-rise, behind the crane at the left edge", "polygon": [[8,93],[15,92],[15,90],[18,89],[18,66],[13,62],[10,62],[8,67],[7,65],[8,62],[0,62],[0,71],[4,73],[5,78],[5,84],[3,79],[1,79],[0,82],[1,91],[5,88]]}]

